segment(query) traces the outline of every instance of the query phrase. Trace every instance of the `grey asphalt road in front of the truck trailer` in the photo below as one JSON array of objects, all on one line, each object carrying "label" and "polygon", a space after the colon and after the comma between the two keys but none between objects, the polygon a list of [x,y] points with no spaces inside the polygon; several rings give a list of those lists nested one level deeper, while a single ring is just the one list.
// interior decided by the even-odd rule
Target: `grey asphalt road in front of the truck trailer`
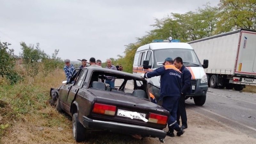
[{"label": "grey asphalt road in front of the truck trailer", "polygon": [[209,88],[203,106],[196,106],[193,99],[187,99],[186,109],[256,138],[256,94]]}]

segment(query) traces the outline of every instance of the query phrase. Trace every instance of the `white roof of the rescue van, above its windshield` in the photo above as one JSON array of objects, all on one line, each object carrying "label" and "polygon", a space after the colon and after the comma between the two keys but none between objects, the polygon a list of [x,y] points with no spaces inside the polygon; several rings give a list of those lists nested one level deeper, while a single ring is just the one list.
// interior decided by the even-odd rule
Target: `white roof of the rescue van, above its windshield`
[{"label": "white roof of the rescue van, above its windshield", "polygon": [[137,52],[143,51],[146,49],[156,50],[156,49],[167,49],[167,48],[184,48],[184,49],[193,49],[188,43],[184,42],[153,42],[141,46],[137,49]]}]

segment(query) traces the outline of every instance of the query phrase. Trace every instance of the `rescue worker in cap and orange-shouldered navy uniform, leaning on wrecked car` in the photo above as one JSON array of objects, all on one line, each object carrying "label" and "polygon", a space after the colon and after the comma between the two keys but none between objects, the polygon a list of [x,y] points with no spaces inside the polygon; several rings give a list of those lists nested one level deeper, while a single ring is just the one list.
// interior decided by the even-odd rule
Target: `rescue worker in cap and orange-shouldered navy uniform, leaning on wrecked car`
[{"label": "rescue worker in cap and orange-shouldered navy uniform, leaning on wrecked car", "polygon": [[174,137],[174,130],[177,131],[178,136],[182,135],[185,131],[179,127],[176,121],[180,90],[182,87],[182,74],[180,70],[172,64],[172,58],[168,57],[165,59],[163,67],[148,72],[144,74],[143,77],[151,78],[154,76],[161,76],[159,100],[163,101],[162,106],[170,112],[168,119],[169,131],[167,132],[167,135]]}]

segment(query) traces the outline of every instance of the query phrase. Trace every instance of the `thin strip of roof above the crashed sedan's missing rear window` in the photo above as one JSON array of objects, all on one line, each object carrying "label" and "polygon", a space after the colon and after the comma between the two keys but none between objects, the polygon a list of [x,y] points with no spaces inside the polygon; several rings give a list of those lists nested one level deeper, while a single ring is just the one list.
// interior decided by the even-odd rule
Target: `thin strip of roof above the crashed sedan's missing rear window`
[{"label": "thin strip of roof above the crashed sedan's missing rear window", "polygon": [[[99,71],[110,72],[110,73],[115,73],[115,74],[119,74],[119,75],[125,75],[125,76],[130,76],[130,77],[134,77],[134,78],[143,79],[140,76],[136,76],[136,75],[133,75],[131,73],[127,73],[127,72],[123,72],[123,71],[119,71],[119,70],[114,70],[114,69],[109,69],[109,68],[100,68],[100,67],[86,67],[86,68],[90,71],[99,70]],[[84,68],[82,68],[82,69],[84,69]]]}]

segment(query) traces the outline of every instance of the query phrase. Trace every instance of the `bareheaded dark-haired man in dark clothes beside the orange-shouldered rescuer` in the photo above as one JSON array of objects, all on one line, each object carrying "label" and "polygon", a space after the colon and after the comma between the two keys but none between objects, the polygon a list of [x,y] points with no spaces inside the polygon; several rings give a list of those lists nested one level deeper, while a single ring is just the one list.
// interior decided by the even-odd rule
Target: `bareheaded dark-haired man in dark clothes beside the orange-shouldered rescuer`
[{"label": "bareheaded dark-haired man in dark clothes beside the orange-shouldered rescuer", "polygon": [[183,65],[183,61],[180,57],[174,59],[174,65],[176,68],[180,69],[182,73],[182,88],[180,93],[180,100],[177,111],[177,123],[180,125],[180,117],[182,126],[180,128],[188,128],[187,123],[187,113],[185,109],[185,96],[191,93],[191,73]]}]

